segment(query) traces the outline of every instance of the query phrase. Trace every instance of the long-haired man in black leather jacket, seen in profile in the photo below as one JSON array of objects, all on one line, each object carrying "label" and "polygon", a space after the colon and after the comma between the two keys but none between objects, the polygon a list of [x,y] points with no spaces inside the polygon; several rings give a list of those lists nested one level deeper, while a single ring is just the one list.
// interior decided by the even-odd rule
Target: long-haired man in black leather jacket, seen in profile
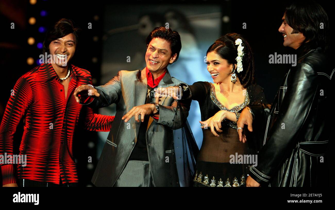
[{"label": "long-haired man in black leather jacket, seen in profile", "polygon": [[[331,139],[331,92],[334,67],[325,49],[328,17],[315,2],[286,8],[279,32],[284,46],[296,49],[296,66],[287,72],[272,105],[243,110],[238,127],[267,120],[257,167],[250,167],[247,186],[320,186],[327,143]],[[324,28],[321,28],[321,23]],[[249,129],[250,130],[250,129]],[[245,138],[239,129],[240,139]]]}]

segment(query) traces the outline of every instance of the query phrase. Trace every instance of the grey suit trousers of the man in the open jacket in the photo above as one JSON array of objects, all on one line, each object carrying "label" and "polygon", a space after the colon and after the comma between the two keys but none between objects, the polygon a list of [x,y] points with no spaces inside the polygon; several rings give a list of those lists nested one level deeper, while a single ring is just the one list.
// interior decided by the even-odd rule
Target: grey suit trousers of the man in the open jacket
[{"label": "grey suit trousers of the man in the open jacket", "polygon": [[113,187],[154,187],[149,161],[128,161]]}]

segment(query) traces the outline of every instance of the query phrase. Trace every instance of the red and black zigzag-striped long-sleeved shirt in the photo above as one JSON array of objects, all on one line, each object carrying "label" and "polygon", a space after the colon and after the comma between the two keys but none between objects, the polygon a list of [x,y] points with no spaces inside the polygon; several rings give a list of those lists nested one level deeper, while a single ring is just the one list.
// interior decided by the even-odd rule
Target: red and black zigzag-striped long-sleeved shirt
[{"label": "red and black zigzag-striped long-sleeved shirt", "polygon": [[26,155],[26,166],[1,164],[2,184],[16,183],[16,178],[62,183],[78,182],[72,152],[73,134],[81,109],[85,109],[85,128],[110,131],[114,116],[93,113],[77,103],[76,87],[91,84],[88,71],[70,66],[70,82],[65,98],[64,86],[51,64],[42,64],[24,74],[15,84],[0,125],[0,155],[13,154],[13,135],[24,118],[19,147]]}]

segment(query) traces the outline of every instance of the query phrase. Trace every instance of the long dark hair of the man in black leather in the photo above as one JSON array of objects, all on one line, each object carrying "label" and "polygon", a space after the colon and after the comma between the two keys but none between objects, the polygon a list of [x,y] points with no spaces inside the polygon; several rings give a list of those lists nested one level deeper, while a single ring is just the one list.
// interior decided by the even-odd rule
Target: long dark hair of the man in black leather
[{"label": "long dark hair of the man in black leather", "polygon": [[[306,37],[303,45],[327,50],[329,21],[320,4],[312,0],[296,1],[286,7],[285,20],[293,30]],[[320,28],[321,23],[323,28]]]}]

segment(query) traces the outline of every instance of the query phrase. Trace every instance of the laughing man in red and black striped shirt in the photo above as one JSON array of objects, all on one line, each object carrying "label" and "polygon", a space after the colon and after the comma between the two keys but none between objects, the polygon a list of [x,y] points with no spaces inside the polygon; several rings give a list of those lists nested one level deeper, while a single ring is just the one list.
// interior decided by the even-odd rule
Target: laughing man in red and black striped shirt
[{"label": "laughing man in red and black striped shirt", "polygon": [[[43,51],[52,55],[21,76],[14,86],[0,125],[0,155],[3,186],[76,186],[78,176],[72,152],[73,134],[81,111],[86,113],[85,128],[109,131],[114,116],[94,114],[76,102],[73,92],[80,85],[91,85],[88,71],[68,64],[75,53],[79,28],[61,19],[48,31]],[[82,110],[83,109],[83,110]],[[13,163],[13,135],[24,118],[20,155],[24,164]],[[0,159],[1,160],[1,159]],[[15,162],[15,160],[14,160]]]}]

